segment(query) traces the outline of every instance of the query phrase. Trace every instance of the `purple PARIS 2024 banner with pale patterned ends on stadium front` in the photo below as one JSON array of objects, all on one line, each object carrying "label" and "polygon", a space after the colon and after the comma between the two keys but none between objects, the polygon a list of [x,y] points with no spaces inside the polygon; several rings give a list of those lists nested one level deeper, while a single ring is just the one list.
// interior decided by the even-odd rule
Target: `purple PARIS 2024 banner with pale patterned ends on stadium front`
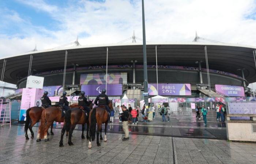
[{"label": "purple PARIS 2024 banner with pale patterned ends on stadium front", "polygon": [[148,93],[149,95],[157,95],[157,93],[158,95],[191,95],[191,85],[158,83],[157,92],[157,84],[149,83]]}]

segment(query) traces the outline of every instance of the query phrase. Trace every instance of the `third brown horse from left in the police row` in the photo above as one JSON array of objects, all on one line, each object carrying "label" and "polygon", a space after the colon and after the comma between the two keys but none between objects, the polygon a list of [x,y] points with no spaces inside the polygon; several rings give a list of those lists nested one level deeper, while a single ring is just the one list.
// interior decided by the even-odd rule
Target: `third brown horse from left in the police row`
[{"label": "third brown horse from left in the police row", "polygon": [[[90,109],[93,109],[93,101],[89,101]],[[71,142],[71,137],[73,130],[76,127],[76,124],[82,125],[82,139],[84,139],[84,124],[87,124],[86,128],[86,138],[89,139],[89,119],[88,116],[85,114],[86,112],[80,108],[73,108],[71,110],[68,110],[65,113],[65,120],[64,120],[64,126],[61,130],[61,137],[60,137],[60,147],[63,147],[63,136],[65,133],[65,130],[69,132],[68,136],[68,145],[71,146],[73,143]]]}]

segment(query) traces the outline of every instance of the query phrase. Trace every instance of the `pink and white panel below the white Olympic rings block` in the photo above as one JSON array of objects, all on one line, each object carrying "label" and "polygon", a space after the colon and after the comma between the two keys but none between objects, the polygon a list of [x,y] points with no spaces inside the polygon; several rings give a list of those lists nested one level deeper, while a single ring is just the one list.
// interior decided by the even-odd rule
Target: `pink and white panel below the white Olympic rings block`
[{"label": "pink and white panel below the white Olympic rings block", "polygon": [[19,121],[26,120],[27,109],[33,106],[41,106],[41,97],[44,94],[44,90],[36,88],[23,88],[22,99],[20,104],[20,116]]}]

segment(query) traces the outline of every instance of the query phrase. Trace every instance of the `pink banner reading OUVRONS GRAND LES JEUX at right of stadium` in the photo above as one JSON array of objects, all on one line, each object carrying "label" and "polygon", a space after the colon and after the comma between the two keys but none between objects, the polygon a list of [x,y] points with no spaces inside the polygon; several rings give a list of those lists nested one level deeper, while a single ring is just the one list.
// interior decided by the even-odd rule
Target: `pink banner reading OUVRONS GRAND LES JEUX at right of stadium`
[{"label": "pink banner reading OUVRONS GRAND LES JEUX at right of stadium", "polygon": [[218,93],[222,93],[231,97],[244,97],[244,87],[234,85],[215,85],[215,90]]}]

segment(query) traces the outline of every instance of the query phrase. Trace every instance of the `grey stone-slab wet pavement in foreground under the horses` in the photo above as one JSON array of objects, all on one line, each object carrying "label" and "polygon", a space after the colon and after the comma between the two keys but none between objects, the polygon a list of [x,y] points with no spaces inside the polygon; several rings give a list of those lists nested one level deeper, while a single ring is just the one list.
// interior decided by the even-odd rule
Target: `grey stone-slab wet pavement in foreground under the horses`
[{"label": "grey stone-slab wet pavement in foreground under the horses", "polygon": [[[34,128],[37,133],[38,128]],[[24,126],[0,128],[0,164],[256,164],[256,143],[227,142],[225,140],[146,136],[107,133],[107,141],[92,142],[81,139],[81,131],[75,130],[74,145],[59,147],[60,129],[53,129],[54,136],[48,142],[25,140]],[[30,133],[29,133],[30,136]]]}]

